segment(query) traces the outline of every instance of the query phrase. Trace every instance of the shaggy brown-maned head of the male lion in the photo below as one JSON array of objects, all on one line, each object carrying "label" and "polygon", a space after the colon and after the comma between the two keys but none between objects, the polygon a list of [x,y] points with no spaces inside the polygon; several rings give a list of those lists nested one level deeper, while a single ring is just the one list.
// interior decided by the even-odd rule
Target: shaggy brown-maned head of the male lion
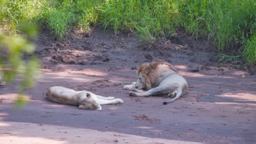
[{"label": "shaggy brown-maned head of the male lion", "polygon": [[167,62],[151,62],[141,64],[137,69],[137,81],[135,88],[143,90],[153,88],[160,76],[158,65],[166,65],[168,69],[177,72],[176,69],[174,69],[173,66]]}]

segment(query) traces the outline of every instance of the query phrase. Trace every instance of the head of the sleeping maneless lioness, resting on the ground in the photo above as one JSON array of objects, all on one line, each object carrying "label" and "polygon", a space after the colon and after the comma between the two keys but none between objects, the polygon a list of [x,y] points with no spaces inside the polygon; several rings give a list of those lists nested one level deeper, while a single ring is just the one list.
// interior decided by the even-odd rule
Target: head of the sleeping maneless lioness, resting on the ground
[{"label": "head of the sleeping maneless lioness, resting on the ground", "polygon": [[88,110],[97,110],[101,109],[100,104],[96,103],[96,101],[91,97],[91,92],[86,92],[86,98],[82,101],[80,105],[84,106],[84,109]]}]

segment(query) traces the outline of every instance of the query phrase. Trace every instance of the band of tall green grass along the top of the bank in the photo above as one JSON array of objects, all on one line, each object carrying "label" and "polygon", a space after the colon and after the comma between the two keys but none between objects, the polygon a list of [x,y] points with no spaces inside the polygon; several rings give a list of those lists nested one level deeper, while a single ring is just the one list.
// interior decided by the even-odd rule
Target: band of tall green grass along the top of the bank
[{"label": "band of tall green grass along the top of the bank", "polygon": [[1,1],[0,26],[15,32],[20,21],[46,27],[58,40],[74,29],[101,25],[154,40],[183,28],[194,38],[211,40],[217,51],[240,51],[255,64],[255,0],[77,0]]}]

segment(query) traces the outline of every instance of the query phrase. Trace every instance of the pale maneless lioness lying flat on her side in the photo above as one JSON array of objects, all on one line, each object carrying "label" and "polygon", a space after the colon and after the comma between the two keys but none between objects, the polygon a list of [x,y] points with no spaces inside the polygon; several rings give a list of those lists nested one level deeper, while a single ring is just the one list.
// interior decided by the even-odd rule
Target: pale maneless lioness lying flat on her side
[{"label": "pale maneless lioness lying flat on her side", "polygon": [[74,91],[73,89],[55,86],[50,87],[46,97],[59,104],[79,106],[79,109],[101,110],[101,105],[123,104],[121,99],[102,97],[88,91]]}]

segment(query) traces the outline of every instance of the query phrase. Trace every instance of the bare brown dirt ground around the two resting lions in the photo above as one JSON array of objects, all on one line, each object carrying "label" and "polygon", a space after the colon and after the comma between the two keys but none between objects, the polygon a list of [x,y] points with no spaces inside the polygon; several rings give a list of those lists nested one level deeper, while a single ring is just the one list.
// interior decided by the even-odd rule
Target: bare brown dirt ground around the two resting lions
[{"label": "bare brown dirt ground around the two resting lions", "polygon": [[[14,111],[17,82],[0,87],[4,143],[256,143],[255,70],[217,65],[211,43],[177,34],[146,44],[99,28],[59,43],[41,33],[35,43],[42,69],[26,91],[29,103]],[[188,81],[187,95],[168,105],[162,105],[167,97],[129,97],[123,86],[136,80],[137,65],[151,61],[171,62]],[[51,86],[124,104],[79,110],[46,99]]]}]

